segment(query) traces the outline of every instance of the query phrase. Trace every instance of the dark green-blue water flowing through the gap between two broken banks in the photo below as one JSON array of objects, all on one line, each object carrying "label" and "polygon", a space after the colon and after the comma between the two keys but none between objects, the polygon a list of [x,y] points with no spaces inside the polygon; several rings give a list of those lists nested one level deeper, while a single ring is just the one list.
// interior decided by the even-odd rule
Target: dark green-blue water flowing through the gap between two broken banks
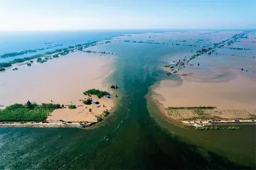
[{"label": "dark green-blue water flowing through the gap between two broken banks", "polygon": [[[120,86],[114,113],[89,130],[1,128],[0,169],[247,169],[255,166],[253,155],[240,164],[228,157],[232,149],[223,142],[229,140],[237,147],[242,142],[238,136],[247,133],[250,142],[244,145],[255,150],[255,126],[242,128],[237,135],[228,136],[228,131],[199,134],[201,131],[166,123],[154,103],[146,98],[150,87],[166,78],[159,68],[166,54],[182,55],[191,48],[112,42],[92,49],[118,54],[117,69],[110,77],[110,81]],[[215,142],[213,135],[218,136],[221,145],[226,145],[217,147],[223,152],[208,147],[212,142],[196,140],[199,136]],[[224,147],[227,149],[221,149]],[[254,153],[240,149],[238,157],[241,152]]]}]

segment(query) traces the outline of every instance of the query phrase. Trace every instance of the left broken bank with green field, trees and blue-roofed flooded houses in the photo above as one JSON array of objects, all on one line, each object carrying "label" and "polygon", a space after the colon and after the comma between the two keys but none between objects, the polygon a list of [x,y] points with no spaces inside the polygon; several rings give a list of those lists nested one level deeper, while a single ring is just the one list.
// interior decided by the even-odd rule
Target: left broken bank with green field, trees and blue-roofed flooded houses
[{"label": "left broken bank with green field, trees and blue-roofed flooded houses", "polygon": [[[105,102],[112,97],[109,92],[89,89],[83,92],[83,94],[87,98],[81,99],[81,105],[79,106],[73,103],[70,105],[60,105],[58,103],[42,103],[39,105],[31,101],[27,101],[25,104],[15,103],[14,105],[6,106],[2,110],[0,109],[0,127],[86,128],[104,120],[107,115],[110,115],[110,107]],[[103,109],[102,113],[95,111],[100,107]],[[82,108],[82,111],[87,110],[84,116],[94,116],[95,120],[85,121],[84,118],[79,117],[82,114],[81,112],[78,113],[78,119],[74,119],[77,115],[73,110],[75,111],[77,108]]]}]

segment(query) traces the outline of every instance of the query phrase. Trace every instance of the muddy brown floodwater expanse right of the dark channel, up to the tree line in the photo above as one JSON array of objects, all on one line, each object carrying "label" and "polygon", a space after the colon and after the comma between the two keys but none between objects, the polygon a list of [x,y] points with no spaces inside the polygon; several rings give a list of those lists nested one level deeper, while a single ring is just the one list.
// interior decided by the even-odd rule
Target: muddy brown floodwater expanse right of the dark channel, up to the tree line
[{"label": "muddy brown floodwater expanse right of the dark channel, up to the tree line", "polygon": [[[247,41],[252,39],[250,36]],[[247,47],[248,44],[242,39],[233,46]],[[255,110],[256,67],[255,53],[252,52],[255,48],[242,52],[216,51],[218,55],[202,55],[191,61],[194,65],[186,65],[179,72],[193,74],[186,77],[171,75],[170,79],[155,84],[153,98],[161,103],[159,107],[215,106],[224,110]]]}]

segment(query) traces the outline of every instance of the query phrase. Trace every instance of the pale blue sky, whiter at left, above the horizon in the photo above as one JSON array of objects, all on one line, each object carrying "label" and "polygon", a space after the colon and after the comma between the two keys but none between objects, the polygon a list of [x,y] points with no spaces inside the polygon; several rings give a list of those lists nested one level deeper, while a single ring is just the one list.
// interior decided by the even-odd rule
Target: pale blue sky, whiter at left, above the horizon
[{"label": "pale blue sky, whiter at left, above the horizon", "polygon": [[256,0],[0,0],[0,30],[255,29]]}]

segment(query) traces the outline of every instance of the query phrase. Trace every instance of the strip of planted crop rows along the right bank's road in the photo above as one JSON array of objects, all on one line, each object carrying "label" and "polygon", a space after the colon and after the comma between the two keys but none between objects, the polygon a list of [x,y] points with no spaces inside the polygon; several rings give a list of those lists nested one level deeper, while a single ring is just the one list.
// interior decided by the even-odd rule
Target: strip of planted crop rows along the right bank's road
[{"label": "strip of planted crop rows along the right bank's road", "polygon": [[256,109],[218,109],[210,106],[188,108],[166,108],[168,115],[174,120],[234,120],[256,119]]}]

